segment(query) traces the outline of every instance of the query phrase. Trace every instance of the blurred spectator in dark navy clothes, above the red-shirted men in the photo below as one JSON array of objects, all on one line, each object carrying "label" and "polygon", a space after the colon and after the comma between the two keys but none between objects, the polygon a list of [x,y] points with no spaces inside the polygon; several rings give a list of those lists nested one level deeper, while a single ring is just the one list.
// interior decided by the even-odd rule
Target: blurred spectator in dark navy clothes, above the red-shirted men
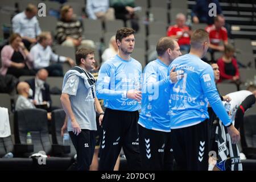
[{"label": "blurred spectator in dark navy clothes, above the red-shirted men", "polygon": [[214,16],[209,16],[209,11],[212,9],[212,7],[209,7],[210,3],[215,3],[217,15],[222,14],[221,6],[220,3],[218,3],[218,0],[197,0],[191,13],[193,23],[213,24]]}]

